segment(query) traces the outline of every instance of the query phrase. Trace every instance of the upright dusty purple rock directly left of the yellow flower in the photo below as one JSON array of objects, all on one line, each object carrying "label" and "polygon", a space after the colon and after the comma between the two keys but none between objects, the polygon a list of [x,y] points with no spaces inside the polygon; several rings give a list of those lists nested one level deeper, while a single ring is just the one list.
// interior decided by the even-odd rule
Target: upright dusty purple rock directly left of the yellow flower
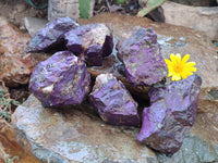
[{"label": "upright dusty purple rock directly left of the yellow flower", "polygon": [[118,45],[118,58],[133,86],[152,86],[167,75],[167,65],[153,28],[134,27]]}]

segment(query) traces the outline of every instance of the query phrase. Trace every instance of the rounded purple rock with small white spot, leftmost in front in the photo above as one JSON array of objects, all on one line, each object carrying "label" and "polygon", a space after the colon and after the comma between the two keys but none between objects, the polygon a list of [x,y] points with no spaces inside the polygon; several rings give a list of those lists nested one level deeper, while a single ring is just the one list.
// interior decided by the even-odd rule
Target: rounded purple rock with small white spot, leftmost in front
[{"label": "rounded purple rock with small white spot, leftmost in front", "polygon": [[35,67],[29,90],[45,106],[59,106],[81,103],[89,85],[84,61],[70,51],[60,51]]}]

